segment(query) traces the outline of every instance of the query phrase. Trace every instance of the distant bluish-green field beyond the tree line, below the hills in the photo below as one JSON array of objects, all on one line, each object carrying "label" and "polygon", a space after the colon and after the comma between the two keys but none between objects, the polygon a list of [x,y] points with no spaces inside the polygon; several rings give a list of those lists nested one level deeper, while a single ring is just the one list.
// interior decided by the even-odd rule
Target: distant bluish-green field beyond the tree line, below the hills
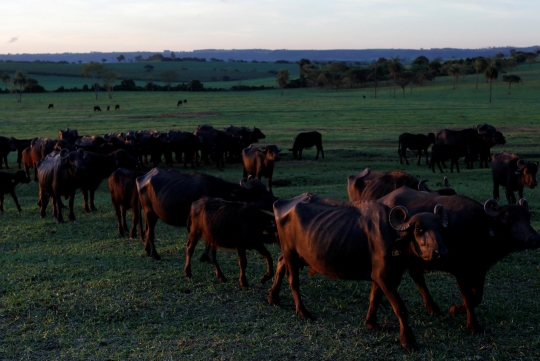
[{"label": "distant bluish-green field beyond the tree line, below the hills", "polygon": [[[174,70],[178,74],[176,83],[187,83],[191,79],[198,79],[206,82],[223,82],[224,77],[229,80],[224,82],[224,86],[229,88],[238,81],[252,79],[264,79],[274,77],[269,71],[287,69],[291,76],[298,75],[298,65],[296,64],[275,64],[275,63],[229,63],[229,62],[134,62],[134,63],[111,63],[104,64],[120,74],[120,79],[134,79],[138,84],[144,85],[146,77],[153,77],[153,81],[160,84],[160,73],[164,70]],[[145,65],[152,65],[154,69],[148,72]],[[48,63],[15,63],[0,62],[0,73],[23,71],[29,77],[38,79],[46,90],[55,90],[59,86],[70,84],[69,87],[82,87],[91,81],[80,77],[81,66],[79,64],[48,64]],[[119,82],[118,82],[119,83]],[[73,84],[73,85],[72,85]],[[231,84],[231,85],[229,85]],[[259,83],[256,83],[259,85]],[[1,85],[1,84],[0,84]]]}]

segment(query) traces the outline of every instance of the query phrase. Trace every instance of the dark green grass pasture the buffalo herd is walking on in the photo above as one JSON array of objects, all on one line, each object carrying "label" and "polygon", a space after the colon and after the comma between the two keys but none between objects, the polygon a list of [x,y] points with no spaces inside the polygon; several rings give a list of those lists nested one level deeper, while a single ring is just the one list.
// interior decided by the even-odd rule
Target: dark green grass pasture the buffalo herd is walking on
[{"label": "dark green grass pasture the buffalo herd is walking on", "polygon": [[[180,63],[182,64],[182,63]],[[275,187],[280,198],[304,192],[347,199],[346,177],[366,166],[377,170],[405,170],[429,179],[436,188],[440,173],[399,164],[397,138],[405,131],[427,133],[443,128],[463,129],[490,123],[506,136],[504,149],[527,160],[540,160],[540,66],[522,66],[514,73],[524,85],[494,84],[493,103],[488,85],[475,90],[474,77],[452,90],[450,79],[401,91],[391,87],[378,97],[373,89],[325,91],[313,89],[226,93],[117,92],[96,101],[92,93],[0,95],[0,135],[27,138],[57,137],[59,129],[80,134],[103,134],[129,129],[193,130],[198,124],[222,128],[230,124],[257,126],[264,143],[288,153],[276,164]],[[362,96],[365,95],[364,99]],[[176,107],[178,99],[188,99]],[[54,103],[53,110],[47,104]],[[94,105],[120,104],[117,112],[93,113]],[[325,159],[293,161],[286,149],[300,131],[323,134]],[[502,150],[496,147],[495,152]],[[414,155],[410,155],[414,159]],[[15,154],[10,166],[16,167]],[[184,171],[180,167],[175,167]],[[464,167],[463,167],[464,168]],[[199,171],[238,181],[239,164],[223,171],[205,166]],[[480,202],[492,196],[490,171],[462,170],[446,174],[460,194]],[[477,314],[486,331],[471,335],[465,318],[426,312],[408,275],[399,292],[419,343],[414,352],[399,343],[397,319],[388,302],[379,311],[382,329],[368,331],[363,322],[369,283],[345,282],[302,272],[300,287],[306,307],[318,318],[298,318],[289,288],[282,288],[282,305],[265,302],[269,284],[260,285],[265,264],[248,253],[249,289],[237,283],[234,252],[219,251],[228,283],[219,283],[208,264],[193,262],[193,278],[183,277],[185,229],[158,223],[156,247],[162,260],[145,256],[137,240],[119,238],[107,186],[96,194],[98,212],[82,212],[76,199],[77,222],[57,225],[39,218],[38,186],[17,188],[23,212],[10,198],[0,215],[0,359],[2,360],[537,360],[540,358],[540,254],[510,255],[488,273],[485,297]],[[503,193],[504,194],[504,193]],[[9,196],[8,196],[9,197]],[[540,228],[540,194],[525,190],[533,226]],[[502,200],[504,202],[504,200]],[[202,251],[199,243],[195,255]],[[277,246],[270,247],[274,260]],[[454,279],[427,275],[428,285],[448,310],[461,301]]]}]

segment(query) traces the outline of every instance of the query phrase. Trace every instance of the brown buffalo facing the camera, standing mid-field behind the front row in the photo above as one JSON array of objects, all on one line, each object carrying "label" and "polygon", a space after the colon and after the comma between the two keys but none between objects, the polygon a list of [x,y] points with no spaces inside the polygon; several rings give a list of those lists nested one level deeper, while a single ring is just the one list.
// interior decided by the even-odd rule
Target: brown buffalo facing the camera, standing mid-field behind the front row
[{"label": "brown buffalo facing the camera, standing mid-field behind the front row", "polygon": [[249,175],[257,179],[268,178],[268,190],[272,192],[274,163],[280,159],[279,149],[275,145],[267,145],[266,147],[254,147],[251,145],[242,151],[243,177],[247,178]]}]

